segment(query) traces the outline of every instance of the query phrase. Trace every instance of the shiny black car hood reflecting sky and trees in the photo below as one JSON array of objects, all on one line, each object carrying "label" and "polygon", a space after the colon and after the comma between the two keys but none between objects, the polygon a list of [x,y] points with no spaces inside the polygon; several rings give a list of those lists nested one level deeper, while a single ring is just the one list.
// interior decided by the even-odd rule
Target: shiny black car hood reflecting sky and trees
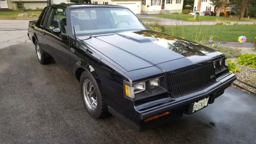
[{"label": "shiny black car hood reflecting sky and trees", "polygon": [[127,71],[188,56],[206,56],[214,49],[151,30],[79,36]]}]

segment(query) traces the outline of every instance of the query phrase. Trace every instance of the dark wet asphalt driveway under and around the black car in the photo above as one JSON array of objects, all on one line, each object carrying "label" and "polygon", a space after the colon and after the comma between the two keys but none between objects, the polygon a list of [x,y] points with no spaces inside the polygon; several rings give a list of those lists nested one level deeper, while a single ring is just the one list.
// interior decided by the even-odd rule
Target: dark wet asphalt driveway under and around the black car
[{"label": "dark wet asphalt driveway under and around the black car", "polygon": [[33,44],[0,49],[0,144],[256,144],[256,97],[228,88],[193,115],[137,132],[110,116],[92,119],[78,81],[40,65]]}]

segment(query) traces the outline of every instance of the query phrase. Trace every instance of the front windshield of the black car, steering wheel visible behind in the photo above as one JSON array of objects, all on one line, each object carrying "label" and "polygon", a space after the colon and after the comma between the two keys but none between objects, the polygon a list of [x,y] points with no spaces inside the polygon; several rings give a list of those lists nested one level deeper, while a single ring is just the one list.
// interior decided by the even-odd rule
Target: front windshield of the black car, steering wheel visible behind
[{"label": "front windshield of the black car, steering wheel visible behind", "polygon": [[70,17],[76,35],[146,29],[126,8],[77,8],[71,10]]}]

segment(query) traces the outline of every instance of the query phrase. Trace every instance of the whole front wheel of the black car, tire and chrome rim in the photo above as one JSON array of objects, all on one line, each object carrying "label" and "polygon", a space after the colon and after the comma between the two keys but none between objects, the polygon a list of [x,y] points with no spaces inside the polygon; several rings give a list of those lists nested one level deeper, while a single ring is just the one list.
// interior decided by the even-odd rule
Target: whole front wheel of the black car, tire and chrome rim
[{"label": "whole front wheel of the black car, tire and chrome rim", "polygon": [[92,74],[84,71],[80,77],[80,91],[87,112],[92,118],[104,118],[107,106],[100,93],[99,86]]}]

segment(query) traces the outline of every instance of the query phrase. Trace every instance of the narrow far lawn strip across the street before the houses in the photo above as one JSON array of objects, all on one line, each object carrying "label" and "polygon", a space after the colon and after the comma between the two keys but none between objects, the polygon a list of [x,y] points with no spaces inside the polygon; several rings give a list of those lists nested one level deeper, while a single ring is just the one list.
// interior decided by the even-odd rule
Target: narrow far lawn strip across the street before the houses
[{"label": "narrow far lawn strip across the street before the houses", "polygon": [[[188,15],[188,14],[152,14],[152,16],[162,17],[162,18],[172,18],[177,20],[186,20],[188,21],[188,18],[194,18],[194,15]],[[253,21],[253,19],[235,19],[235,18],[224,18],[222,16],[198,16],[199,21]]]}]

